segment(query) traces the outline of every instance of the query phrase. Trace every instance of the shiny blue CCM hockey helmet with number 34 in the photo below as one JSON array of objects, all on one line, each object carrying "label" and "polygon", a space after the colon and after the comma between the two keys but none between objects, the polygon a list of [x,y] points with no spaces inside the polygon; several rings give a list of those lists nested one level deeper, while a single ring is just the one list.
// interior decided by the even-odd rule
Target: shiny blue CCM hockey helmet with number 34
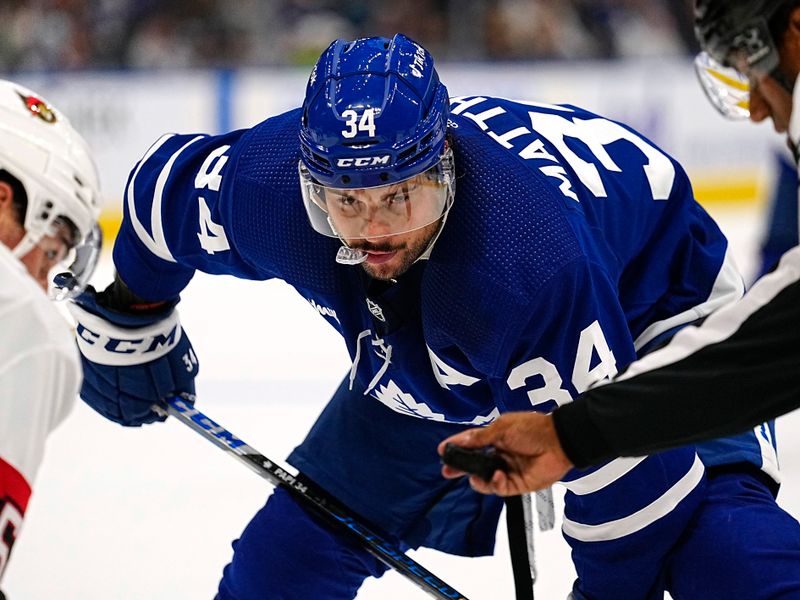
[{"label": "shiny blue CCM hockey helmet with number 34", "polygon": [[308,80],[302,163],[318,184],[370,188],[442,158],[449,101],[433,57],[404,35],[337,40]]}]

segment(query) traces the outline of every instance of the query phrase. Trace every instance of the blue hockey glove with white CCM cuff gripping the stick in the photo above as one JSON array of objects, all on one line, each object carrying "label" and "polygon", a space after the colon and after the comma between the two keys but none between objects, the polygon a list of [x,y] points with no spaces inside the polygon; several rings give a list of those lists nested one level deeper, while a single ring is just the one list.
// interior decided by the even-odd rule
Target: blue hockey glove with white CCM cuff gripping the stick
[{"label": "blue hockey glove with white CCM cuff gripping the stick", "polygon": [[[68,305],[77,321],[83,364],[81,398],[104,417],[128,426],[163,421],[152,410],[171,394],[194,394],[199,365],[178,320],[176,302],[144,310],[109,307],[113,286],[91,286]],[[124,284],[122,284],[124,286]]]}]

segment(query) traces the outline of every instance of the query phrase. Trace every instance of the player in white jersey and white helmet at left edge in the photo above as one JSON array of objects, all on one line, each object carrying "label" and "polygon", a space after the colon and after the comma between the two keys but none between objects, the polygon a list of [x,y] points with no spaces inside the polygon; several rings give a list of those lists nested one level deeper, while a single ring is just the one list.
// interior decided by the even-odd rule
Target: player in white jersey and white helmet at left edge
[{"label": "player in white jersey and white helmet at left edge", "polygon": [[80,388],[70,327],[48,295],[71,297],[91,276],[97,213],[86,142],[39,96],[0,80],[0,577],[45,440]]}]

